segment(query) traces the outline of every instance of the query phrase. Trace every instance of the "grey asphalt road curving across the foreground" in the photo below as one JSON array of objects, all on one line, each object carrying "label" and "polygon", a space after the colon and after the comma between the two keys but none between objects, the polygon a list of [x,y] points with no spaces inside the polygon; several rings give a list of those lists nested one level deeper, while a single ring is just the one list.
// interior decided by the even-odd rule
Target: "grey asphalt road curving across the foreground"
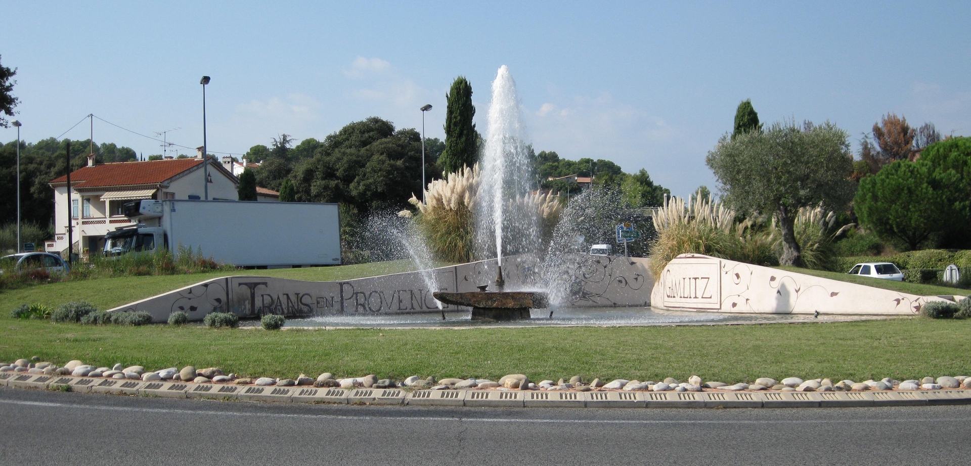
[{"label": "grey asphalt road curving across the foreground", "polygon": [[965,464],[971,406],[442,409],[0,387],[2,465]]}]

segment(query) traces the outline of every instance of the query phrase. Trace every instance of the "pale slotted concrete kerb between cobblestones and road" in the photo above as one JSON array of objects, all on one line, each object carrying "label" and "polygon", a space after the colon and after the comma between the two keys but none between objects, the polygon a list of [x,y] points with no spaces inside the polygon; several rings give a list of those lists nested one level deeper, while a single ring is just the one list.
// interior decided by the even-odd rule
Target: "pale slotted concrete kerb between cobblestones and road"
[{"label": "pale slotted concrete kerb between cobblestones and road", "polygon": [[484,408],[851,408],[971,404],[971,389],[883,391],[403,390],[117,381],[0,373],[0,386],[165,398]]}]

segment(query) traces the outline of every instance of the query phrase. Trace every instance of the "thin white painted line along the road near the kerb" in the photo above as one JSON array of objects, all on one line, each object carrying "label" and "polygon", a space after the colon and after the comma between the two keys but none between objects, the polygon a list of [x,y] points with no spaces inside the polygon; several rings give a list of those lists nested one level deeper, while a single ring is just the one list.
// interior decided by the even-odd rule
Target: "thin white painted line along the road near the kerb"
[{"label": "thin white painted line along the road near the kerb", "polygon": [[453,422],[498,422],[498,423],[549,423],[549,424],[845,424],[845,423],[913,423],[915,420],[921,422],[964,422],[971,420],[971,417],[938,417],[928,419],[909,418],[868,418],[868,419],[806,419],[806,420],[713,420],[713,419],[512,419],[512,418],[487,418],[487,417],[457,417],[457,416],[342,416],[342,415],[295,415],[288,413],[246,413],[234,411],[208,411],[208,410],[183,410],[183,409],[160,409],[160,408],[131,408],[121,406],[92,406],[77,405],[73,403],[52,403],[43,401],[20,401],[20,400],[0,400],[0,403],[19,406],[35,406],[39,408],[59,408],[59,409],[82,409],[99,411],[120,411],[130,413],[153,413],[153,414],[185,414],[185,415],[208,415],[208,416],[253,416],[253,417],[287,417],[287,418],[308,418],[308,419],[330,419],[330,420],[410,420],[410,421],[453,421]]}]

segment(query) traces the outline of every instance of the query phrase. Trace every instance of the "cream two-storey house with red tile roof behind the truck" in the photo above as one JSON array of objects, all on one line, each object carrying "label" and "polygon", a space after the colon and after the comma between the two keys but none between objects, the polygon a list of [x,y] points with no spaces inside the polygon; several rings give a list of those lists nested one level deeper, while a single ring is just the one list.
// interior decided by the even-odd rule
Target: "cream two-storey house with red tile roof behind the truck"
[{"label": "cream two-storey house with red tile roof behind the truck", "polygon": [[[209,159],[208,180],[204,181],[203,173],[201,155],[195,158],[100,165],[94,163],[94,155],[88,155],[87,166],[71,172],[70,206],[67,177],[50,182],[50,187],[54,189],[54,239],[46,243],[46,249],[59,251],[62,257],[67,257],[68,210],[74,226],[74,252],[84,253],[102,250],[105,234],[109,231],[134,225],[122,215],[126,202],[140,199],[204,199],[206,183],[209,186],[209,199],[238,199],[239,180],[218,160]],[[278,193],[278,199],[279,196]]]}]

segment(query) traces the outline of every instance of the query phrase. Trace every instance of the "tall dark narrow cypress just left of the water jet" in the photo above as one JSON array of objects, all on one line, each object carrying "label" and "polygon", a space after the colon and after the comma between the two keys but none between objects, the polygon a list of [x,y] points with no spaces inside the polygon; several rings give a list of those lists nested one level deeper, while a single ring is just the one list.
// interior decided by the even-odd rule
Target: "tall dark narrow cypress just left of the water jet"
[{"label": "tall dark narrow cypress just left of the water jet", "polygon": [[459,76],[446,94],[449,107],[445,113],[445,150],[438,158],[443,173],[454,173],[479,161],[479,132],[472,118],[476,108],[472,105],[472,84]]}]

